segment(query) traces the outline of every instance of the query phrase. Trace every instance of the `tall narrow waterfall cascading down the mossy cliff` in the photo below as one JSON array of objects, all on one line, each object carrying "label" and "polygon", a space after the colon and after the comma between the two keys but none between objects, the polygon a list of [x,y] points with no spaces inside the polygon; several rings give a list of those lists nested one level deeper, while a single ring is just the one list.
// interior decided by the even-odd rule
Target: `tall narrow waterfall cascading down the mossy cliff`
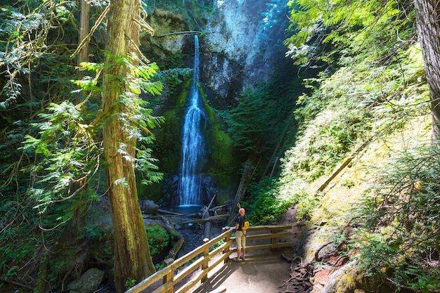
[{"label": "tall narrow waterfall cascading down the mossy cliff", "polygon": [[194,71],[190,85],[188,108],[182,129],[182,165],[179,183],[179,202],[181,206],[201,204],[202,167],[205,162],[205,112],[199,93],[199,39],[194,39]]}]

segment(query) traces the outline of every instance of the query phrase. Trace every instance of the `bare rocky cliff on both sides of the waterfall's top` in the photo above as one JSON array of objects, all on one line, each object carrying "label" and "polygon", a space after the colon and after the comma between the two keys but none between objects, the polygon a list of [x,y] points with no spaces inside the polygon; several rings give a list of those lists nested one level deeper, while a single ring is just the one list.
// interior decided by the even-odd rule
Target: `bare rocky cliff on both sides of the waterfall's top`
[{"label": "bare rocky cliff on both sides of the waterfall's top", "polygon": [[193,29],[183,15],[156,8],[149,17],[155,37],[148,38],[150,44],[145,44],[146,51],[161,59],[173,54],[190,54],[192,36],[167,34],[201,30],[200,80],[213,96],[231,102],[246,86],[268,81],[276,74],[294,73],[292,60],[285,58],[283,45],[287,2],[216,0],[207,24]]}]

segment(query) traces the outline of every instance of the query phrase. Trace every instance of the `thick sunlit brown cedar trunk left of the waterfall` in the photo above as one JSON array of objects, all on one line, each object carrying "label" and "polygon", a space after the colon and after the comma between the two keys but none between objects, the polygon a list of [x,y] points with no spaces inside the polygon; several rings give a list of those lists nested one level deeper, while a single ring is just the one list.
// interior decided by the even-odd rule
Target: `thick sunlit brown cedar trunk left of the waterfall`
[{"label": "thick sunlit brown cedar trunk left of the waterfall", "polygon": [[[137,0],[111,1],[105,50],[112,56],[125,56],[130,51],[136,53],[132,44],[138,43],[139,29],[133,18],[138,11]],[[118,103],[120,95],[127,90],[118,77],[127,77],[127,67],[110,64],[103,73],[103,112],[109,117],[103,129],[103,143],[108,162],[108,198],[115,228],[115,286],[117,292],[124,292],[127,280],[140,282],[155,272],[155,266],[138,204],[131,159],[135,156],[136,140],[121,119],[122,115],[131,116],[131,110]],[[127,154],[119,151],[124,145]]]}]

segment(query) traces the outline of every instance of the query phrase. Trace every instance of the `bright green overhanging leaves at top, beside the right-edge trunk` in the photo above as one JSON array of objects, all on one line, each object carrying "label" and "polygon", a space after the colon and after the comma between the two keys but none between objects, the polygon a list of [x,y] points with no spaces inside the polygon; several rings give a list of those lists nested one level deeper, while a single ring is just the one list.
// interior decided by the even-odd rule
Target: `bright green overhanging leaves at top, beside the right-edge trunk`
[{"label": "bright green overhanging leaves at top, beside the right-edge trunk", "polygon": [[408,1],[292,0],[288,52],[297,64],[390,63],[415,36]]}]

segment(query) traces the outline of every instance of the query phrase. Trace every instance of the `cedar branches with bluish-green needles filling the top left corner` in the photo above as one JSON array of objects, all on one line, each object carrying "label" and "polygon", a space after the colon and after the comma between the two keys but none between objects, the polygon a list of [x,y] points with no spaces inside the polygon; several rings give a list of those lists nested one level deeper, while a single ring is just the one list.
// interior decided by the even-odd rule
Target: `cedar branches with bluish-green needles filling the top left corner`
[{"label": "cedar branches with bluish-green needles filling the top left corner", "polygon": [[31,67],[41,58],[58,53],[59,63],[61,56],[67,55],[67,50],[60,46],[62,41],[52,36],[63,34],[72,25],[73,7],[70,1],[58,5],[17,1],[13,6],[1,6],[0,66],[7,74],[1,79],[0,108],[11,108],[19,96],[27,94],[22,78],[32,74]]}]

